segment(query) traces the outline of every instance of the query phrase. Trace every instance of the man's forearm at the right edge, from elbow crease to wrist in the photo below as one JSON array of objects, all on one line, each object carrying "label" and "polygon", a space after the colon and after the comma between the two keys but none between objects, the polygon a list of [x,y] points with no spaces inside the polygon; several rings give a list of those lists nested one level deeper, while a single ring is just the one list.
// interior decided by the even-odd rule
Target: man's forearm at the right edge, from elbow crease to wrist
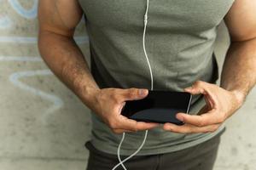
[{"label": "man's forearm at the right edge, from elbow crease to wrist", "polygon": [[256,38],[231,42],[220,86],[237,94],[241,103],[256,83]]}]

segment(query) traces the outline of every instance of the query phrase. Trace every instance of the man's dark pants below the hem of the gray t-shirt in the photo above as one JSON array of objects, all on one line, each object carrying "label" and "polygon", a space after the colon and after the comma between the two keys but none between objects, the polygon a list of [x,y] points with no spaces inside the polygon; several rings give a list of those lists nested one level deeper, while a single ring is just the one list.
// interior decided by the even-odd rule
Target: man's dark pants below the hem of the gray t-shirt
[{"label": "man's dark pants below the hem of the gray t-shirt", "polygon": [[[127,170],[212,170],[221,134],[188,149],[166,154],[133,156],[130,160],[125,161],[124,165]],[[116,155],[96,150],[90,142],[87,142],[85,146],[90,150],[87,170],[111,170],[119,163]],[[121,156],[121,160],[124,160],[125,157],[127,156]],[[120,169],[123,167],[116,168],[116,170]]]}]

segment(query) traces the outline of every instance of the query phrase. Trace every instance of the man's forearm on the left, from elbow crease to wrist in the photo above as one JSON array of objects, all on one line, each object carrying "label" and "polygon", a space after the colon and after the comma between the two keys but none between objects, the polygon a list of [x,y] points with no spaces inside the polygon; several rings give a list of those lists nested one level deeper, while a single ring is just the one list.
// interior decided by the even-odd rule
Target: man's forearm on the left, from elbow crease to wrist
[{"label": "man's forearm on the left, from elbow crease to wrist", "polygon": [[72,37],[50,31],[40,31],[39,52],[49,69],[71,89],[85,105],[93,105],[93,97],[99,89],[90,74],[82,52]]}]

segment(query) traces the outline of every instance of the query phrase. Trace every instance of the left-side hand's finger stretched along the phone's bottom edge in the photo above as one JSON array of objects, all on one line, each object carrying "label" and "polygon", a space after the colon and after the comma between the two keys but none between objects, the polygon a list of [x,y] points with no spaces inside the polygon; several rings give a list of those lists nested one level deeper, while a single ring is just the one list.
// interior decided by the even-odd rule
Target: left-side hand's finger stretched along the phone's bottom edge
[{"label": "left-side hand's finger stretched along the phone's bottom edge", "polygon": [[135,120],[129,119],[125,116],[119,115],[119,128],[132,130],[132,131],[139,131],[139,130],[146,130],[151,129],[154,127],[160,126],[160,123],[156,122],[137,122]]}]

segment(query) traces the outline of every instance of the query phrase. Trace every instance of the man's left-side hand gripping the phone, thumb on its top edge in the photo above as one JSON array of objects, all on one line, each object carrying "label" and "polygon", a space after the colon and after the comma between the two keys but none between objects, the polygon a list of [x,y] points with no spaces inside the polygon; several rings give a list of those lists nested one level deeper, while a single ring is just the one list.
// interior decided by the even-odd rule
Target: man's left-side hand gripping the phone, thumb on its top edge
[{"label": "man's left-side hand gripping the phone, thumb on its top edge", "polygon": [[[142,92],[142,94],[140,94]],[[137,122],[122,116],[121,110],[125,100],[143,99],[148,95],[148,89],[138,88],[102,88],[97,91],[93,111],[102,117],[113,133],[136,132],[157,127],[159,123]]]}]

